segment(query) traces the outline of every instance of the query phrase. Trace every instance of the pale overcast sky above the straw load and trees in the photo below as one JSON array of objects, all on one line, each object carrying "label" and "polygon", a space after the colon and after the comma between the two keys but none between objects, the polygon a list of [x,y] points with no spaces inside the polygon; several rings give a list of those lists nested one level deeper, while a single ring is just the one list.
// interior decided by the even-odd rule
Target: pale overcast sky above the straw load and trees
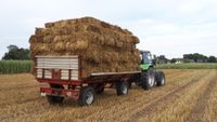
[{"label": "pale overcast sky above the straw load and trees", "polygon": [[0,0],[0,57],[7,46],[28,48],[35,27],[92,16],[127,28],[139,49],[166,57],[217,56],[217,0]]}]

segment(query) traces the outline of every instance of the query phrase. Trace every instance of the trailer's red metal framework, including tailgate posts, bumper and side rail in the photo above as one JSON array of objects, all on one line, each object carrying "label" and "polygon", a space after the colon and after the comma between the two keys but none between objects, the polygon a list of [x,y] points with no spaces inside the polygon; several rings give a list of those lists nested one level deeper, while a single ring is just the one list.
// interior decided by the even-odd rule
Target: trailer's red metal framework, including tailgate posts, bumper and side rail
[{"label": "trailer's red metal framework, including tailgate posts, bumper and side rail", "polygon": [[[82,67],[81,67],[81,57],[78,57],[78,79],[82,77]],[[36,58],[35,63],[36,63]],[[36,66],[36,64],[35,64]],[[50,70],[52,72],[52,79],[44,78],[44,70]],[[130,74],[113,74],[113,76],[90,76],[84,80],[72,80],[71,73],[72,69],[68,69],[68,80],[61,79],[61,69],[42,69],[42,78],[37,78],[37,68],[35,68],[35,77],[36,80],[40,83],[48,83],[52,84],[60,84],[60,85],[67,85],[67,89],[53,89],[53,87],[40,87],[40,93],[44,93],[46,95],[51,96],[62,96],[62,97],[71,97],[74,100],[78,100],[80,87],[84,85],[89,85],[94,83],[112,83],[113,82],[122,82],[125,79],[130,78]],[[113,87],[112,85],[108,86],[110,89]]]}]

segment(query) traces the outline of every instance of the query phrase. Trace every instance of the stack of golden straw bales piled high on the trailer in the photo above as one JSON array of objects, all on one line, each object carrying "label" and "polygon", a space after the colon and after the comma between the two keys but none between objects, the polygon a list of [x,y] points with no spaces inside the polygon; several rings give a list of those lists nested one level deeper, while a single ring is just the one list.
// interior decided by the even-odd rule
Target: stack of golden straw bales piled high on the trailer
[{"label": "stack of golden straw bales piled high on the trailer", "polygon": [[82,70],[120,72],[139,70],[139,39],[127,29],[93,17],[47,23],[29,39],[31,59],[36,55],[79,55]]}]

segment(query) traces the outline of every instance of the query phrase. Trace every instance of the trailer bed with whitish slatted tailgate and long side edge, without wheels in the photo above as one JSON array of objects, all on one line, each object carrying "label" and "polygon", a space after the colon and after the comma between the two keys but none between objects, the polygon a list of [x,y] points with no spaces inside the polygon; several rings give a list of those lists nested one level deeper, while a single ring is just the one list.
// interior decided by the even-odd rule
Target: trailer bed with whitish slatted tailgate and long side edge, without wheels
[{"label": "trailer bed with whitish slatted tailgate and long side edge, without wheels", "polygon": [[[123,72],[94,72],[88,77],[82,77],[81,58],[78,55],[73,56],[36,56],[36,78],[39,82],[66,82],[65,84],[76,82],[111,82],[127,79],[141,71]],[[105,81],[106,80],[106,81]],[[76,83],[79,84],[79,83]]]}]

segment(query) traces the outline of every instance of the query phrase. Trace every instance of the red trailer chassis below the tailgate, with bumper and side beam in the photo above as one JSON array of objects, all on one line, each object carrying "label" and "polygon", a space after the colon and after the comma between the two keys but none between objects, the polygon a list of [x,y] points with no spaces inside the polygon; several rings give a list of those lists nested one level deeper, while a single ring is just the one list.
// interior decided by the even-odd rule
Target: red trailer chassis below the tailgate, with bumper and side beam
[{"label": "red trailer chassis below the tailgate, with bumper and side beam", "polygon": [[[139,73],[140,71],[127,71],[127,72],[100,72],[92,73],[86,80],[55,80],[55,79],[38,79],[36,80],[40,83],[48,83],[50,87],[40,87],[41,96],[61,96],[61,97],[69,97],[75,101],[78,101],[80,90],[82,86],[91,86],[98,83],[103,83],[104,86],[106,84],[111,84],[110,86],[105,86],[105,89],[113,89],[113,84],[116,82],[128,81],[132,74]],[[105,81],[106,79],[106,81]],[[59,85],[67,85],[64,89],[53,89],[51,84]],[[95,87],[97,89],[97,87]],[[95,90],[97,91],[97,90]]]}]

